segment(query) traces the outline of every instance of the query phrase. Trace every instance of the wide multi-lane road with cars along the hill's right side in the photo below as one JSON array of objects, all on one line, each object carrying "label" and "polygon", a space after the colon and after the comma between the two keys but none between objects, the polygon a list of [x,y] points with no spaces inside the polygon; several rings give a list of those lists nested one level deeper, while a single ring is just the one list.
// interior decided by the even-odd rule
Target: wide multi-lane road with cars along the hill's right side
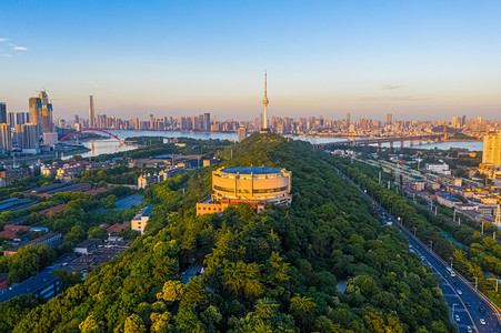
[{"label": "wide multi-lane road with cars along the hill's right side", "polygon": [[[402,235],[409,240],[411,252],[420,255],[423,263],[431,268],[432,273],[440,276],[443,296],[449,304],[451,322],[455,323],[459,332],[469,332],[469,327],[471,332],[501,332],[499,310],[495,305],[460,274],[455,273],[455,276],[451,276],[447,271],[449,268],[448,263],[430,249],[433,245],[432,243],[423,244],[407,228],[401,225],[395,216],[390,215],[387,210],[370,198],[365,191],[362,191],[362,189],[339,170],[338,173],[341,178],[358,188],[374,204],[378,215],[385,223],[392,222],[394,226],[400,229]],[[459,320],[455,320],[457,315]],[[484,324],[482,324],[481,320],[484,321]]]}]

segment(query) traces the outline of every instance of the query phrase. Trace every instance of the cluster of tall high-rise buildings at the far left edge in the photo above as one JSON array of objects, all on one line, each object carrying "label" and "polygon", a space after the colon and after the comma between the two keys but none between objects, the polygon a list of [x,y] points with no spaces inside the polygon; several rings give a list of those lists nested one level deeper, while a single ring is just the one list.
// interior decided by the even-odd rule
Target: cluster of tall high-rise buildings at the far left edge
[{"label": "cluster of tall high-rise buildings at the far left edge", "polygon": [[14,149],[38,152],[40,144],[54,144],[58,134],[52,118],[52,102],[46,91],[29,99],[29,112],[8,112],[0,103],[0,150],[9,153]]}]

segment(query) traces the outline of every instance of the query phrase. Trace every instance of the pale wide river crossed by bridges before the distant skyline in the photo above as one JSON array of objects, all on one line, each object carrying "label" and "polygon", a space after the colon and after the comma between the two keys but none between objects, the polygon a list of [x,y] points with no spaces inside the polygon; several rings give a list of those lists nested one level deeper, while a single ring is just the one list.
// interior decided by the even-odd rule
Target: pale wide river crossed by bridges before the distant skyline
[{"label": "pale wide river crossed by bridges before the distant skyline", "polygon": [[[164,138],[193,138],[193,139],[220,139],[220,140],[237,140],[237,133],[198,133],[198,132],[179,132],[179,131],[117,131],[109,130],[110,133],[117,135],[118,138],[124,140],[127,138],[133,137],[164,137]],[[303,140],[310,143],[327,143],[327,142],[338,142],[344,141],[344,138],[312,138],[312,137],[293,137],[290,138],[294,140]],[[415,143],[415,142],[414,142]],[[83,158],[97,157],[99,154],[116,153],[120,151],[127,151],[136,149],[136,145],[120,144],[114,139],[106,140],[90,140],[84,141],[82,144],[90,149],[89,152],[81,154]],[[410,142],[407,141],[405,147],[410,147]],[[383,144],[383,147],[389,147],[389,144]],[[400,143],[394,144],[395,148],[400,147]],[[483,143],[480,141],[449,141],[439,142],[432,144],[414,145],[419,149],[450,149],[460,148],[470,151],[482,151]],[[68,157],[69,158],[69,157]]]}]

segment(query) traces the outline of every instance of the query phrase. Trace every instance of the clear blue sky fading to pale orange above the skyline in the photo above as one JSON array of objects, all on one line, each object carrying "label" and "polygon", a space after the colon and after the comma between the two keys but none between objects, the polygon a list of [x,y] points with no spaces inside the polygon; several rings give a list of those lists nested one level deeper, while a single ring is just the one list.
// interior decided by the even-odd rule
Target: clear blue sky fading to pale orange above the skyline
[{"label": "clear blue sky fading to pale orange above the skyline", "polygon": [[0,0],[0,101],[54,118],[501,119],[501,1]]}]

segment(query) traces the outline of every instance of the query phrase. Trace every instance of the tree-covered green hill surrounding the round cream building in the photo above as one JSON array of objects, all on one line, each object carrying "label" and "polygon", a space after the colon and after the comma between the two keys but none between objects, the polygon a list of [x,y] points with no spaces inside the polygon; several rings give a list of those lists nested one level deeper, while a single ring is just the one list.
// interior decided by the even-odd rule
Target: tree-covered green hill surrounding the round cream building
[{"label": "tree-covered green hill surrounding the round cream building", "polygon": [[[210,194],[217,167],[151,185],[144,195],[158,205],[143,236],[52,301],[38,306],[18,301],[16,320],[0,327],[453,331],[439,281],[397,230],[373,216],[371,204],[337,175],[322,152],[275,134],[252,134],[220,155],[226,167],[292,171],[292,204],[268,205],[260,214],[240,205],[221,215],[196,216],[196,202]],[[204,273],[183,284],[182,272],[191,264],[203,265]]]}]

